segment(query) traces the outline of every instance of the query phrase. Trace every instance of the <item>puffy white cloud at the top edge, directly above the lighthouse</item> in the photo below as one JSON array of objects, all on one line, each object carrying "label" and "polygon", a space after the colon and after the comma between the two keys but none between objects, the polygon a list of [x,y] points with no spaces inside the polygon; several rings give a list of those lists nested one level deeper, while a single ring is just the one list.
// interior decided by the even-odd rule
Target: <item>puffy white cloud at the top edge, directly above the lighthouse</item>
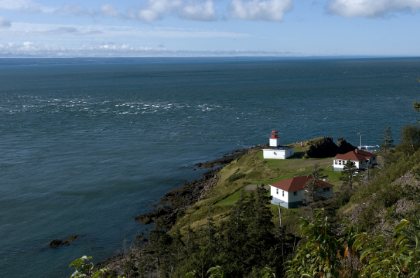
[{"label": "puffy white cloud at the top edge, directly above the lighthouse", "polygon": [[293,9],[292,0],[252,0],[230,2],[230,15],[241,20],[281,21],[283,13]]}]

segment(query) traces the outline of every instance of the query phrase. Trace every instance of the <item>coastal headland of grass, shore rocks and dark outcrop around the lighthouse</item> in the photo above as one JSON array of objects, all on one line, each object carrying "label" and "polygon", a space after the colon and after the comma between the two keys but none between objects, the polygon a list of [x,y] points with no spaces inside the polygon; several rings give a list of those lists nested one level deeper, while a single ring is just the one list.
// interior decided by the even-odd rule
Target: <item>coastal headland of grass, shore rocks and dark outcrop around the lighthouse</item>
[{"label": "coastal headland of grass, shore rocks and dark outcrop around the lighthouse", "polygon": [[[262,158],[262,149],[268,144],[238,149],[230,154],[225,154],[220,159],[197,163],[197,168],[211,168],[202,175],[202,179],[187,182],[179,189],[174,189],[163,196],[159,203],[153,205],[155,210],[141,214],[135,219],[142,224],[151,224],[157,219],[160,226],[169,233],[181,231],[186,233],[188,228],[199,230],[206,225],[207,217],[211,217],[215,223],[220,223],[229,217],[232,205],[239,198],[241,189],[249,184],[269,184],[279,180],[285,180],[293,175],[307,175],[314,164],[319,163],[325,167],[325,173],[330,175],[329,180],[333,184],[340,185],[340,173],[327,168],[332,164],[330,157],[309,157],[324,152],[337,154],[353,149],[346,140],[339,138],[335,144],[330,137],[315,138],[302,142],[295,142],[290,146],[295,147],[295,155],[286,160]],[[283,211],[283,208],[282,208]],[[272,205],[274,221],[278,221],[278,208]],[[294,221],[296,210],[284,209],[286,222]],[[275,217],[277,215],[277,217]],[[277,220],[275,220],[277,218]],[[288,218],[288,219],[287,219]],[[290,229],[295,225],[290,223]],[[96,265],[96,268],[121,268],[128,258],[124,254],[118,254]]]}]

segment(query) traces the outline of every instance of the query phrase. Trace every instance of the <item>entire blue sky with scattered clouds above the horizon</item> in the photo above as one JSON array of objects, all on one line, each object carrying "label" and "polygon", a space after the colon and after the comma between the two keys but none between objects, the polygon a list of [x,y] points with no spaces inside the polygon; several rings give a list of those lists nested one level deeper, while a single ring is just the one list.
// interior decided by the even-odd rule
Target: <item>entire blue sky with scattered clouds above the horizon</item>
[{"label": "entire blue sky with scattered clouds above the horizon", "polygon": [[0,0],[0,57],[420,56],[420,0]]}]

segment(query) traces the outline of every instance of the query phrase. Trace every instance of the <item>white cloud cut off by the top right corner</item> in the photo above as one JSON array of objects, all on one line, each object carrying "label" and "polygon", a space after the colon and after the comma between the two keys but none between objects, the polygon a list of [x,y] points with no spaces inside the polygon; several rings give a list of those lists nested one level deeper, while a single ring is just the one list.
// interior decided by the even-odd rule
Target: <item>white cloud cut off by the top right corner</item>
[{"label": "white cloud cut off by the top right corner", "polygon": [[332,0],[325,10],[341,17],[383,17],[391,13],[418,10],[420,0]]}]

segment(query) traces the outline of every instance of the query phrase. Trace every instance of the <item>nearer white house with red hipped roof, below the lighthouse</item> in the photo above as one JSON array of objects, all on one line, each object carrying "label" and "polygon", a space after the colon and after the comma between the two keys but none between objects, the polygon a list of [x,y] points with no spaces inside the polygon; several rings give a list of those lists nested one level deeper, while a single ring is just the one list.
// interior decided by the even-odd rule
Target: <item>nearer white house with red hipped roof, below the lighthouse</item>
[{"label": "nearer white house with red hipped roof, below the lighthouse", "polygon": [[[304,193],[307,192],[304,189],[304,185],[311,180],[310,176],[302,177],[291,177],[287,180],[282,180],[281,182],[274,182],[274,184],[269,184],[270,194],[273,197],[272,203],[278,204],[282,207],[293,208],[298,205],[304,205],[302,199],[304,198]],[[316,185],[320,188],[316,196],[320,197],[332,197],[333,193],[333,184],[324,182],[323,180],[317,180]]]}]

